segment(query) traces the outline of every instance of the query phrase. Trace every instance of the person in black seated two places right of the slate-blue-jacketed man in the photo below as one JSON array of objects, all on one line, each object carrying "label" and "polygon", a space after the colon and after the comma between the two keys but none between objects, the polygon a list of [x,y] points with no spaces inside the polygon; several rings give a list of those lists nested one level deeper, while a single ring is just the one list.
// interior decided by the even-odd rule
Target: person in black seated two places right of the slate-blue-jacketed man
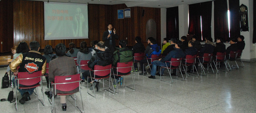
[{"label": "person in black seated two places right of the slate-blue-jacketed man", "polygon": [[205,38],[205,44],[204,47],[201,48],[199,56],[204,56],[204,53],[212,53],[214,51],[215,46],[216,44],[212,42],[211,37]]}]

